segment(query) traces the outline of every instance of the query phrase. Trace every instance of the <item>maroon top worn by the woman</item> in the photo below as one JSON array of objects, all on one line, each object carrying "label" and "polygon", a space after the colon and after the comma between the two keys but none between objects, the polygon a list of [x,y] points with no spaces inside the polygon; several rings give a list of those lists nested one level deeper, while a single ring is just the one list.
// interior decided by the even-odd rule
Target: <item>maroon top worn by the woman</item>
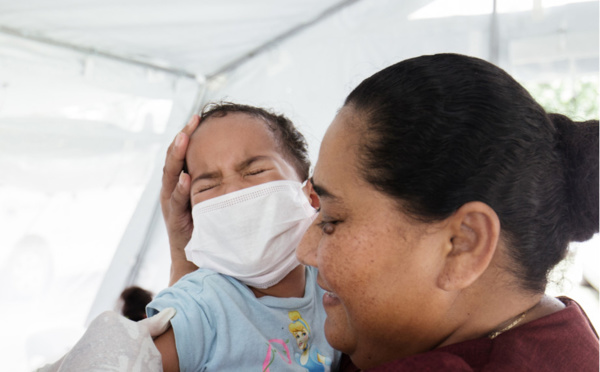
[{"label": "maroon top worn by the woman", "polygon": [[[598,372],[598,334],[579,305],[525,323],[495,339],[479,338],[398,359],[370,369],[387,371]],[[352,371],[351,367],[347,371]]]}]

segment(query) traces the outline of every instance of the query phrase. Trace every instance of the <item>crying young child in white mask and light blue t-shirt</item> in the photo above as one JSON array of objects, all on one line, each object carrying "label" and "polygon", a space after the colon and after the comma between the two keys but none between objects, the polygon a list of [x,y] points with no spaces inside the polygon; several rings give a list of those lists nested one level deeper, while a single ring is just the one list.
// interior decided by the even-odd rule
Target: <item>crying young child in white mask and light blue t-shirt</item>
[{"label": "crying young child in white mask and light blue t-shirt", "polygon": [[310,183],[302,187],[309,167],[287,118],[236,104],[204,110],[186,153],[194,221],[186,256],[200,269],[147,307],[149,316],[177,310],[155,340],[165,371],[337,369],[340,353],[323,331],[325,292],[295,255],[316,216]]}]

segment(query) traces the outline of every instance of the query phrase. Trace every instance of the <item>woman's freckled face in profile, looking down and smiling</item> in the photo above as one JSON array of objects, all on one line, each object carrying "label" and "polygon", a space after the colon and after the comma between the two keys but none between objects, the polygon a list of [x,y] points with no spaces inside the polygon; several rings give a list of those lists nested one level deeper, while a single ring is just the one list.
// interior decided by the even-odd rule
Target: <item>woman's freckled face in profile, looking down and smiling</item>
[{"label": "woman's freckled face in profile, looking down and smiling", "polygon": [[319,269],[325,335],[360,368],[435,347],[440,229],[399,211],[357,170],[360,115],[344,107],[323,139],[313,175],[320,214],[299,259]]}]

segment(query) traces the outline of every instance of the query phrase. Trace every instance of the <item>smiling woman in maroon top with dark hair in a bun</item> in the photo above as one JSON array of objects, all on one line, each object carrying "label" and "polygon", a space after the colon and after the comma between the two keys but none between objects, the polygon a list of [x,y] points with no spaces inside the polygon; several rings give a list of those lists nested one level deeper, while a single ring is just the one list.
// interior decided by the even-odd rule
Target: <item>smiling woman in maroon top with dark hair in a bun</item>
[{"label": "smiling woman in maroon top with dark hair in a bun", "polygon": [[297,255],[357,367],[598,371],[582,310],[544,294],[598,231],[598,121],[545,113],[485,61],[422,56],[350,93],[312,182]]}]

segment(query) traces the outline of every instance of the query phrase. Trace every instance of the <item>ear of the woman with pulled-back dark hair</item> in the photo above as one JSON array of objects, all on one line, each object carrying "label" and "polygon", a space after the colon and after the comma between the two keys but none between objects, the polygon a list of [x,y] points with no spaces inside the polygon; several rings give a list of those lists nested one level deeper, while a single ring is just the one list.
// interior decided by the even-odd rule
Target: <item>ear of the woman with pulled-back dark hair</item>
[{"label": "ear of the woman with pulled-back dark hair", "polygon": [[446,291],[473,284],[489,267],[500,236],[500,219],[482,202],[469,202],[448,219],[449,238],[438,286]]}]

